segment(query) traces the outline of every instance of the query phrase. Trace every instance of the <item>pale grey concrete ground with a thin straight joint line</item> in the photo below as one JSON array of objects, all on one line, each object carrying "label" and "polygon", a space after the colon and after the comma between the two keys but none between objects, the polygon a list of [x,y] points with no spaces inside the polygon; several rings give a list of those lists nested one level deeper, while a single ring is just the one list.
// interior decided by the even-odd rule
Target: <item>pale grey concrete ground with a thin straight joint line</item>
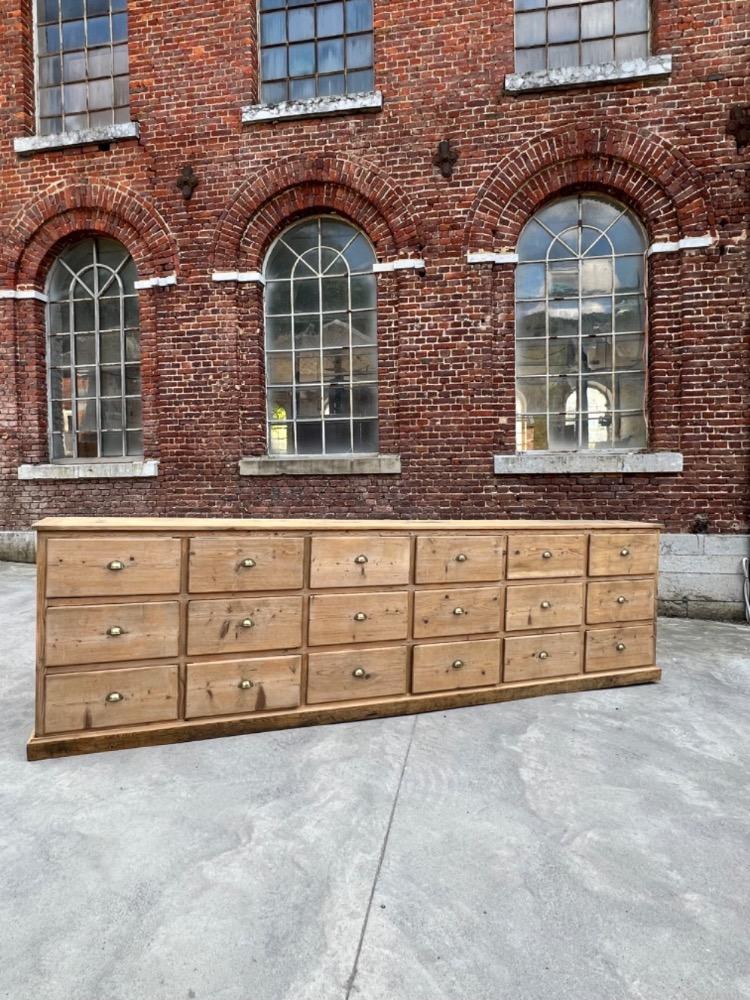
[{"label": "pale grey concrete ground with a thin straight joint line", "polygon": [[750,629],[658,686],[28,764],[0,563],[3,1000],[750,998]]}]

